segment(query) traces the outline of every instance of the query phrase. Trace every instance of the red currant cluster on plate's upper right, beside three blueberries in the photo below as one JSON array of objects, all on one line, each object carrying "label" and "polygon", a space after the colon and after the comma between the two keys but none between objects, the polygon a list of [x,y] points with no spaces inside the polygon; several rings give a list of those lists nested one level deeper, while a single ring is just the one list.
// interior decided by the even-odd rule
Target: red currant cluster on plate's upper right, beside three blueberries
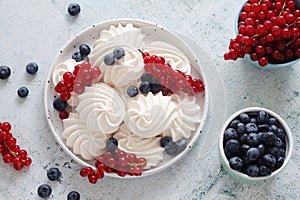
[{"label": "red currant cluster on plate's upper right, beside three blueberries", "polygon": [[170,90],[172,93],[184,92],[194,95],[204,91],[203,82],[200,79],[193,79],[179,70],[173,70],[169,63],[161,56],[150,55],[142,52],[145,64],[145,71],[151,73],[163,86],[164,92]]}]

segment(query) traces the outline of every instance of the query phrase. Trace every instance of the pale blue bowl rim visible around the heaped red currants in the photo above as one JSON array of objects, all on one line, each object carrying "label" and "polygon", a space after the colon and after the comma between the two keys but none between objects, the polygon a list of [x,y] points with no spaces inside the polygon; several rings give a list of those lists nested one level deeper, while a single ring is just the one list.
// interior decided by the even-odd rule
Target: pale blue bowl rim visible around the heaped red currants
[{"label": "pale blue bowl rim visible around the heaped red currants", "polygon": [[[240,18],[240,13],[241,11],[243,10],[244,8],[244,5],[246,3],[248,3],[249,0],[246,0],[244,1],[244,3],[241,4],[241,6],[239,7],[238,9],[238,12],[236,13],[236,17],[235,17],[235,23],[234,23],[234,31],[235,31],[235,34],[239,34],[239,30],[238,30],[238,24],[239,24],[239,18]],[[274,63],[268,63],[266,66],[262,67],[258,64],[258,61],[253,61],[251,60],[250,58],[250,55],[249,54],[246,54],[245,55],[245,59],[249,62],[251,62],[255,67],[257,68],[260,68],[260,69],[280,69],[280,68],[284,68],[284,67],[290,67],[294,64],[296,64],[297,62],[300,61],[300,58],[296,59],[296,60],[291,60],[289,62],[286,62],[286,63],[277,63],[277,64],[274,64]]]}]

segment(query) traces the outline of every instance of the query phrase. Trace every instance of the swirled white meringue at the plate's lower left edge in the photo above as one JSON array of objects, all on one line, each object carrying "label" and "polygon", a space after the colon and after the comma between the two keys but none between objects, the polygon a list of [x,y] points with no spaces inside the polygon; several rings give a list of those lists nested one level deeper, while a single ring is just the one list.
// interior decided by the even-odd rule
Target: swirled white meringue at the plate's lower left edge
[{"label": "swirled white meringue at the plate's lower left edge", "polygon": [[105,151],[105,135],[87,130],[77,113],[70,113],[69,117],[63,120],[63,126],[62,136],[74,154],[81,155],[86,160],[93,160]]}]

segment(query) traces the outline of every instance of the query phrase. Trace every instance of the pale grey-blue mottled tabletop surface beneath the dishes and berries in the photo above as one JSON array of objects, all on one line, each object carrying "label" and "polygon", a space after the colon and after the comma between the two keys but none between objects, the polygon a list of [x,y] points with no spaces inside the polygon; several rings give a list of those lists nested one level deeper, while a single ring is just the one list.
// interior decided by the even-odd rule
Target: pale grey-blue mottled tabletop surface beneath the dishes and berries
[{"label": "pale grey-blue mottled tabletop surface beneath the dishes and berries", "polygon": [[[49,199],[66,199],[72,190],[78,191],[81,199],[300,199],[300,63],[265,71],[245,60],[223,60],[229,39],[234,37],[234,20],[243,0],[77,2],[82,12],[71,17],[66,12],[69,0],[0,1],[0,65],[12,69],[11,77],[0,81],[0,121],[11,122],[18,144],[33,159],[25,171],[0,162],[0,199],[40,199],[37,188],[43,183],[52,187]],[[159,174],[139,179],[105,177],[96,185],[81,178],[81,166],[57,145],[46,122],[44,84],[53,59],[74,34],[115,18],[152,21],[201,46],[224,83],[224,104],[212,106],[216,110],[225,106],[225,118],[249,106],[266,107],[280,114],[295,141],[292,159],[284,171],[261,183],[235,181],[221,168],[216,145],[208,156],[199,158],[200,137],[183,159]],[[39,64],[35,76],[25,72],[29,62]],[[26,99],[16,94],[20,86],[30,90]],[[210,123],[222,123],[215,118],[211,116]],[[63,173],[60,183],[51,182],[46,176],[46,170],[54,166]]]}]

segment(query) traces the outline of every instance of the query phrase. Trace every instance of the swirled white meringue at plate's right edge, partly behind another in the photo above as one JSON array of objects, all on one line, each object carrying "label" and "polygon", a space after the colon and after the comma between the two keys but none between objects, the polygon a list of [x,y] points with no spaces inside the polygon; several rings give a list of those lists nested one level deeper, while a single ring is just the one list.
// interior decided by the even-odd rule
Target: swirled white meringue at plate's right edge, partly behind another
[{"label": "swirled white meringue at plate's right edge, partly behind another", "polygon": [[178,115],[172,121],[171,126],[163,132],[163,136],[170,136],[176,142],[182,138],[191,137],[192,132],[197,129],[197,125],[200,123],[201,109],[194,96],[180,97],[176,94],[172,96],[173,101],[177,103]]}]

